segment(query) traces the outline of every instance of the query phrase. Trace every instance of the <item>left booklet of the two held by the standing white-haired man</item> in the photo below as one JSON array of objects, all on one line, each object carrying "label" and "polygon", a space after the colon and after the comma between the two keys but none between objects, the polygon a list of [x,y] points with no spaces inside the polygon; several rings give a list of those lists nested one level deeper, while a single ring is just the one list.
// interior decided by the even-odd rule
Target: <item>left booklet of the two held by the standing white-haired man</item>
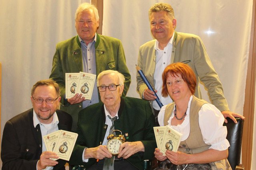
[{"label": "left booklet of the two held by the standing white-haired man", "polygon": [[66,99],[70,99],[76,95],[77,86],[80,80],[80,73],[66,73]]}]

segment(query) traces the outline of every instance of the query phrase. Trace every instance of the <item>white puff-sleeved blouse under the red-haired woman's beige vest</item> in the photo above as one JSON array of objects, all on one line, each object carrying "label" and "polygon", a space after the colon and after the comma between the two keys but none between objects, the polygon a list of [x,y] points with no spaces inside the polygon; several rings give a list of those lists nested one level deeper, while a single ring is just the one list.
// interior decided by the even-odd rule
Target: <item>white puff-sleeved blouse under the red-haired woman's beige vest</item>
[{"label": "white puff-sleeved blouse under the red-haired woman's beige vest", "polygon": [[[170,125],[172,118],[174,117],[174,113],[172,111],[172,115],[168,120],[168,125],[170,125],[173,129],[182,133],[181,141],[185,141],[188,139],[190,133],[190,104],[193,96],[190,97],[188,102],[188,110],[186,112],[186,117],[182,124],[173,126]],[[158,114],[158,122],[160,126],[164,126],[164,113],[166,106],[163,106]],[[198,112],[198,123],[200,130],[202,132],[203,140],[206,144],[211,145],[209,149],[215,150],[226,150],[230,147],[227,136],[227,128],[223,126],[224,116],[222,113],[212,104],[204,104],[200,111]]]}]

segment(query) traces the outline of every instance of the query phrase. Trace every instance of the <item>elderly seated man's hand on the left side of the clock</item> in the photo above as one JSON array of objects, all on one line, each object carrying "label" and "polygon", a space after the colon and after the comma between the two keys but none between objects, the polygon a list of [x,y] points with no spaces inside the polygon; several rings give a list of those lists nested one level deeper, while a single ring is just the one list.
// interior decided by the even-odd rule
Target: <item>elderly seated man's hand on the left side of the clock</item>
[{"label": "elderly seated man's hand on the left side of the clock", "polygon": [[104,159],[111,158],[112,154],[108,151],[105,145],[100,145],[95,148],[87,148],[84,151],[84,159],[95,158],[95,159]]}]

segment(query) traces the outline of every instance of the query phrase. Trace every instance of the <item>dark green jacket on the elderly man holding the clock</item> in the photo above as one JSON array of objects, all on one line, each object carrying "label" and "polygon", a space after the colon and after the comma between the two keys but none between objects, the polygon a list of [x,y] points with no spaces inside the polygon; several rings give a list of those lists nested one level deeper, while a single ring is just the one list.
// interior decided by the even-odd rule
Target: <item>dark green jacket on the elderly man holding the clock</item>
[{"label": "dark green jacket on the elderly man holding the clock", "polygon": [[[154,115],[150,104],[138,98],[121,97],[118,119],[114,121],[116,130],[120,130],[126,142],[142,141],[145,152],[137,152],[127,160],[143,170],[144,161],[154,157],[156,140],[153,127]],[[90,158],[87,163],[82,162],[85,148],[98,147],[103,142],[108,125],[105,124],[106,115],[102,102],[82,109],[78,118],[78,138],[70,158],[71,165],[84,165],[86,168],[96,163]],[[118,134],[119,135],[119,134]]]}]

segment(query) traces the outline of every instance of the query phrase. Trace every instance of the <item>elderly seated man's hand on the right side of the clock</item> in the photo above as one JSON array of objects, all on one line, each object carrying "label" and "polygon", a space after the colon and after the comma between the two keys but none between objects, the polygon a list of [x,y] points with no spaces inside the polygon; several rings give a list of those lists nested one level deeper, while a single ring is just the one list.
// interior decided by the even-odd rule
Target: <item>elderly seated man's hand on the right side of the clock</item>
[{"label": "elderly seated man's hand on the right side of the clock", "polygon": [[124,159],[129,158],[133,154],[137,152],[144,152],[144,145],[141,141],[136,142],[125,142],[122,145],[120,145],[119,151],[118,151],[118,158],[123,157]]}]

